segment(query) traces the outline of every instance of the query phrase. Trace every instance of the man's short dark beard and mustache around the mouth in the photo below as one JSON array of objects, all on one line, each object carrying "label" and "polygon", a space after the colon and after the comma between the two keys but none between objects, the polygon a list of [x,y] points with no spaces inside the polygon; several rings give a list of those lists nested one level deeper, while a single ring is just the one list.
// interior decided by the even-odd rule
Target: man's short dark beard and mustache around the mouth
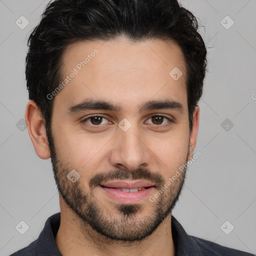
[{"label": "man's short dark beard and mustache around the mouth", "polygon": [[[58,192],[68,208],[78,216],[85,230],[86,226],[89,225],[97,233],[110,238],[112,241],[119,240],[126,243],[140,241],[154,232],[166,216],[171,213],[178,201],[185,180],[186,164],[183,164],[185,166],[184,170],[180,172],[177,179],[164,192],[159,193],[154,202],[148,200],[145,205],[141,203],[116,203],[115,207],[118,215],[113,215],[93,194],[93,188],[99,182],[117,179],[143,179],[155,183],[157,191],[160,191],[160,188],[166,183],[163,176],[147,168],[138,167],[133,171],[117,169],[108,172],[97,172],[90,178],[89,187],[85,187],[79,179],[72,183],[67,178],[70,169],[59,161],[50,132],[47,133],[47,137]],[[187,151],[186,161],[188,153],[189,151]],[[146,216],[138,218],[138,214],[147,205],[150,205],[153,209]]]}]

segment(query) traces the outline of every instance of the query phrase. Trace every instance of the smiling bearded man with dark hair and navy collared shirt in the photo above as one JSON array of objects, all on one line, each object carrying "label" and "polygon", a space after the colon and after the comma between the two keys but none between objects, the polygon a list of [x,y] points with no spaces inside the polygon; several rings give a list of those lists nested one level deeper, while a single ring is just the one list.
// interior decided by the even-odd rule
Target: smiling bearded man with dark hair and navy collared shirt
[{"label": "smiling bearded man with dark hair and navy collared shirt", "polygon": [[28,43],[25,120],[51,157],[60,213],[13,256],[252,255],[171,215],[198,155],[206,48],[191,12],[176,0],[55,0]]}]

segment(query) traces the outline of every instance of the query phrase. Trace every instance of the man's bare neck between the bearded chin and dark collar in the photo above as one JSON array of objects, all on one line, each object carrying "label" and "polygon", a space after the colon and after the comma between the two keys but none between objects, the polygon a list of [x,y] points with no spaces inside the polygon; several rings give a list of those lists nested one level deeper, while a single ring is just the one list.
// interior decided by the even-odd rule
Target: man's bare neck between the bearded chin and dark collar
[{"label": "man's bare neck between the bearded chin and dark collar", "polygon": [[140,241],[124,242],[112,240],[98,233],[89,224],[83,223],[63,203],[60,203],[60,212],[60,226],[55,242],[62,256],[175,255],[171,234],[171,214],[151,235]]}]

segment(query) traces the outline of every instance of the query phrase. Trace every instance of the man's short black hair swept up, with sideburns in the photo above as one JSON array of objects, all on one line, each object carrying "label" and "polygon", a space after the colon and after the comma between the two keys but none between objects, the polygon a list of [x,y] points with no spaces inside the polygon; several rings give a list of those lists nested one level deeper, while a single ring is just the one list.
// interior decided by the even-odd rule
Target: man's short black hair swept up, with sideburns
[{"label": "man's short black hair swept up, with sideburns", "polygon": [[61,56],[72,43],[112,40],[131,42],[163,39],[176,42],[186,65],[189,130],[202,95],[206,47],[195,16],[177,0],[54,0],[29,35],[25,75],[33,100],[50,131],[53,100],[47,98],[61,82]]}]

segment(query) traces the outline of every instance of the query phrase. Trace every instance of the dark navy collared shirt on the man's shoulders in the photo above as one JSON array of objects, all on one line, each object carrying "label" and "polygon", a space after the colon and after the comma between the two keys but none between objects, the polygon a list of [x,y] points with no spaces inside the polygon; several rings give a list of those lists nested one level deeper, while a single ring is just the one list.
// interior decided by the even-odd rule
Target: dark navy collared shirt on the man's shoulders
[{"label": "dark navy collared shirt on the man's shoulders", "polygon": [[[10,256],[61,256],[55,243],[59,224],[60,212],[48,217],[35,241]],[[175,256],[253,256],[247,252],[188,235],[173,216],[171,216],[171,233],[175,244]]]}]

